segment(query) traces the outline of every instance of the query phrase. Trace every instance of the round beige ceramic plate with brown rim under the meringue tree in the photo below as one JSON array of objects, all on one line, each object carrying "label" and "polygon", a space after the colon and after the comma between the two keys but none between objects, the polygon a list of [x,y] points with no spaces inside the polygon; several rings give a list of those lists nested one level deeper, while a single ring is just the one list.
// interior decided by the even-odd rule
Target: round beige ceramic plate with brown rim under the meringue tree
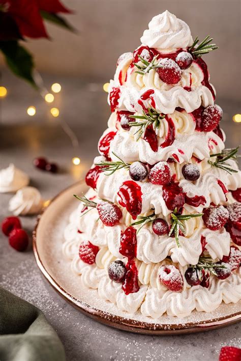
[{"label": "round beige ceramic plate with brown rim under the meringue tree", "polygon": [[105,325],[149,335],[176,335],[217,329],[241,319],[241,302],[224,304],[212,312],[196,312],[183,319],[163,315],[155,320],[140,313],[130,315],[115,305],[98,298],[97,290],[87,289],[81,277],[70,269],[70,261],[62,255],[64,228],[78,201],[73,194],[86,191],[84,181],[65,189],[55,197],[38,218],[34,231],[34,253],[37,264],[48,282],[80,312]]}]

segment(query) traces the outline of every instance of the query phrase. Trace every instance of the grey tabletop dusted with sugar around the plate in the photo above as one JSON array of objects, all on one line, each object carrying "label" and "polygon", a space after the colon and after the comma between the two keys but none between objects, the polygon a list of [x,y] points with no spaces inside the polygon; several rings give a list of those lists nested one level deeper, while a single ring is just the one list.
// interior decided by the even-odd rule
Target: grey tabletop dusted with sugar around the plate
[{"label": "grey tabletop dusted with sugar around the plate", "polygon": [[[0,169],[13,162],[31,177],[44,199],[81,179],[93,157],[97,142],[106,128],[109,108],[101,84],[81,84],[81,79],[45,76],[49,86],[58,81],[63,90],[56,96],[59,118],[49,117],[49,106],[23,82],[7,74],[2,83],[9,90],[1,101]],[[240,125],[232,115],[239,104],[219,99],[224,109],[222,127],[227,136],[227,147],[240,143]],[[36,116],[26,115],[26,108],[35,105]],[[64,133],[61,122],[67,121],[79,138],[74,149]],[[34,168],[35,156],[46,156],[61,166],[57,175]],[[73,156],[81,164],[71,163]],[[0,220],[9,215],[8,202],[12,195],[1,194]],[[23,227],[32,233],[36,217],[21,217]],[[99,324],[82,315],[47,283],[38,269],[32,247],[18,253],[8,245],[0,232],[0,285],[41,308],[61,338],[68,360],[218,360],[224,345],[241,347],[241,324],[220,330],[186,336],[152,337],[131,334]]]}]

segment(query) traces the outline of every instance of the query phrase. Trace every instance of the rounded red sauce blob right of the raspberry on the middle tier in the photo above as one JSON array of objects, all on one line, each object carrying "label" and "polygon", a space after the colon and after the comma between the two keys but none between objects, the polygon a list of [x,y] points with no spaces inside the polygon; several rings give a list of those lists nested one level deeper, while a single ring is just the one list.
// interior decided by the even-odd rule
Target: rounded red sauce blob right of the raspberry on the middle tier
[{"label": "rounded red sauce blob right of the raspberry on the middle tier", "polygon": [[126,207],[132,218],[136,219],[142,207],[141,187],[134,181],[126,181],[119,187],[117,195],[119,205]]}]

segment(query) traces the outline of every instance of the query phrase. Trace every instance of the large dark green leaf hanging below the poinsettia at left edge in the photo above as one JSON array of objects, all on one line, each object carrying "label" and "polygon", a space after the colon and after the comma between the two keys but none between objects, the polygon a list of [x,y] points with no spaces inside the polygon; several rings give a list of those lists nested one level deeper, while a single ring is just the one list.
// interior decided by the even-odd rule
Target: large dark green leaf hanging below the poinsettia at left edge
[{"label": "large dark green leaf hanging below the poinsettia at left edge", "polygon": [[38,89],[33,77],[34,61],[32,55],[17,41],[2,41],[0,42],[0,49],[12,72]]}]

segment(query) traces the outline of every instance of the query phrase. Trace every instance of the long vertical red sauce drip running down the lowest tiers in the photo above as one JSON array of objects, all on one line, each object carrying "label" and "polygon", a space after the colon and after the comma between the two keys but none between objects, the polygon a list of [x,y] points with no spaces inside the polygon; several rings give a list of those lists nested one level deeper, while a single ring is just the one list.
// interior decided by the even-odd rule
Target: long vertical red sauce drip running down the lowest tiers
[{"label": "long vertical red sauce drip running down the lowest tiers", "polygon": [[133,227],[128,227],[125,232],[122,233],[119,248],[119,253],[128,258],[126,264],[127,273],[122,285],[122,289],[126,295],[138,292],[140,289],[138,284],[138,270],[134,261],[136,249],[136,230]]}]

